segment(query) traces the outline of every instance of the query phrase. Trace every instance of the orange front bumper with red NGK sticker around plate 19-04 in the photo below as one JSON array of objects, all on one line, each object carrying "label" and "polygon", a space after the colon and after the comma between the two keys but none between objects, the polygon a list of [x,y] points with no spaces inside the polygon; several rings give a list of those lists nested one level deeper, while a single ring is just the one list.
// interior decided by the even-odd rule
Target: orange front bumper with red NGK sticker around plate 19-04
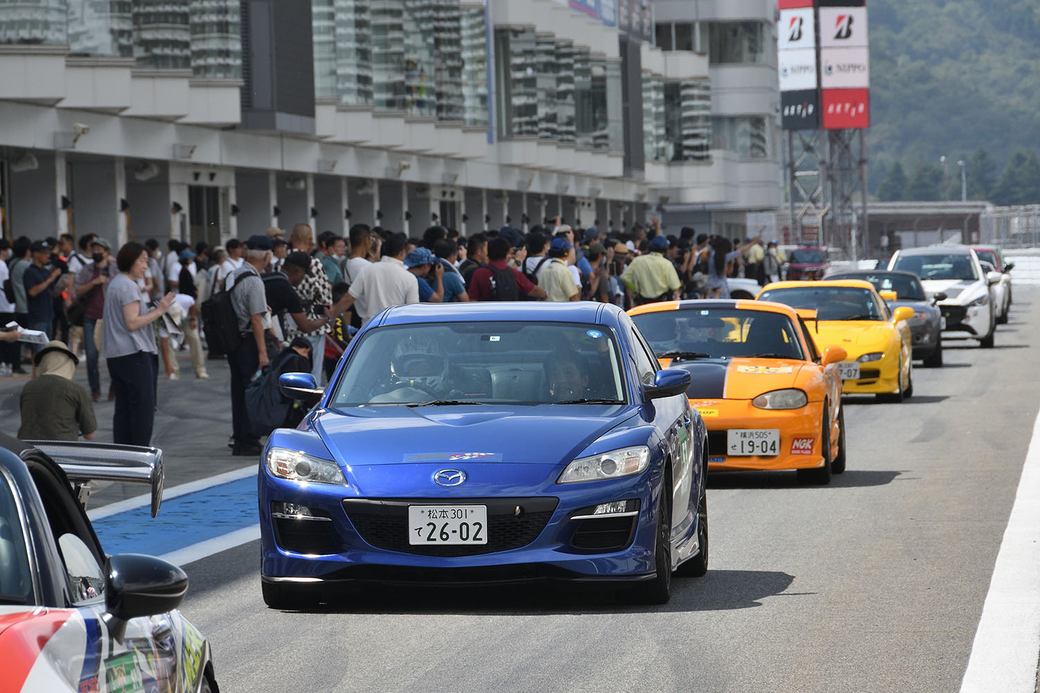
[{"label": "orange front bumper with red NGK sticker around plate 19-04", "polygon": [[[821,441],[824,403],[809,402],[801,409],[759,409],[748,400],[718,400],[697,407],[708,429],[708,471],[807,470],[823,467]],[[779,454],[729,455],[727,432],[731,429],[777,429]],[[810,441],[811,443],[807,443]]]}]

